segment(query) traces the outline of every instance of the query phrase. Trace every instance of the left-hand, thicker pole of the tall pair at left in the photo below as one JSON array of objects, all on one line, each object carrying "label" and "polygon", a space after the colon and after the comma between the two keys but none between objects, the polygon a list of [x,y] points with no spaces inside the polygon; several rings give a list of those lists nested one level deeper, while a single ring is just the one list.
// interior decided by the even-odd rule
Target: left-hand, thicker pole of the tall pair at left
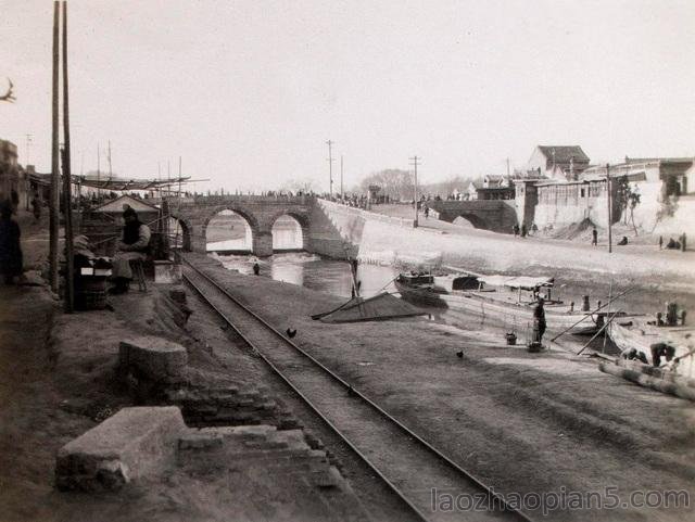
[{"label": "left-hand, thicker pole of the tall pair at left", "polygon": [[58,292],[58,233],[59,233],[59,128],[58,128],[58,97],[59,97],[59,18],[60,4],[53,2],[53,99],[52,99],[52,141],[51,141],[51,198],[49,200],[49,265],[51,290]]}]

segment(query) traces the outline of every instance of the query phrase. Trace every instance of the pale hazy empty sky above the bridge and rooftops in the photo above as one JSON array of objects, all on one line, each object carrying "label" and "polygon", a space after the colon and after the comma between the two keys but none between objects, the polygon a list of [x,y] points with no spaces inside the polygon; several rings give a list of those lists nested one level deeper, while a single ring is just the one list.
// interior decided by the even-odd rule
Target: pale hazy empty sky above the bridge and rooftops
[{"label": "pale hazy empty sky above the bridge and rooftops", "polygon": [[[0,138],[50,170],[52,2],[1,0]],[[70,0],[73,173],[277,189],[695,156],[692,0]],[[26,135],[33,136],[28,150]],[[159,167],[157,167],[159,165]],[[337,187],[337,184],[334,186]]]}]

